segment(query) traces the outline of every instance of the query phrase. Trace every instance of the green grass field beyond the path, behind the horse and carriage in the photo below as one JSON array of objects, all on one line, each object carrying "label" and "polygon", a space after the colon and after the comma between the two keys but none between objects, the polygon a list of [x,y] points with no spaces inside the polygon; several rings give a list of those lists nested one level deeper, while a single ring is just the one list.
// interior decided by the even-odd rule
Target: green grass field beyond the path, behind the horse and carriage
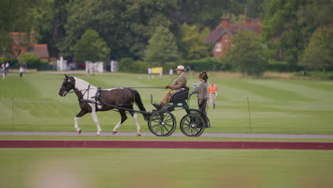
[{"label": "green grass field beyond the path, behind the horse and carriage", "polygon": [[[208,110],[212,127],[205,132],[262,132],[333,134],[333,81],[325,80],[273,80],[273,79],[222,79],[210,75],[220,88],[216,110]],[[147,75],[107,73],[90,76],[75,75],[92,85],[105,88],[164,86],[170,80],[147,80]],[[188,73],[189,86],[196,75]],[[61,98],[58,90],[63,75],[33,74],[8,75],[0,80],[0,131],[75,131],[74,117],[80,111],[74,94]],[[137,89],[147,110],[150,93],[159,102],[164,90]],[[13,98],[14,100],[11,100]],[[249,100],[247,100],[249,98]],[[249,103],[248,103],[249,102]],[[190,103],[197,108],[196,96]],[[249,109],[250,107],[250,118]],[[97,113],[102,130],[110,132],[119,122],[119,113]],[[174,112],[177,129],[184,110]],[[143,132],[149,132],[147,122],[140,117]],[[97,131],[88,114],[80,118],[83,131]],[[121,132],[135,132],[134,120],[129,116]]]}]

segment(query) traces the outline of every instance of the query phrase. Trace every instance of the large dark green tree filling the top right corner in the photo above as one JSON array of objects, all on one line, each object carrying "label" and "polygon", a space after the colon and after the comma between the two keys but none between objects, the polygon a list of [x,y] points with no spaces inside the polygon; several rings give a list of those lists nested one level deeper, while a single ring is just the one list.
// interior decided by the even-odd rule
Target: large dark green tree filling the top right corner
[{"label": "large dark green tree filling the top right corner", "polygon": [[295,65],[312,33],[333,21],[332,1],[271,0],[263,19],[263,36],[280,60]]}]

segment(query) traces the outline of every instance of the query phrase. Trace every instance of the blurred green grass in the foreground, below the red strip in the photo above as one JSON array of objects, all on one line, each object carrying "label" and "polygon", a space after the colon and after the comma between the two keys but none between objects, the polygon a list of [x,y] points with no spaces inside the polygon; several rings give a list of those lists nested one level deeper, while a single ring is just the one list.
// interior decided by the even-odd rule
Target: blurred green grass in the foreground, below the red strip
[{"label": "blurred green grass in the foreground, below the red strip", "polygon": [[0,187],[332,187],[332,151],[0,149]]}]

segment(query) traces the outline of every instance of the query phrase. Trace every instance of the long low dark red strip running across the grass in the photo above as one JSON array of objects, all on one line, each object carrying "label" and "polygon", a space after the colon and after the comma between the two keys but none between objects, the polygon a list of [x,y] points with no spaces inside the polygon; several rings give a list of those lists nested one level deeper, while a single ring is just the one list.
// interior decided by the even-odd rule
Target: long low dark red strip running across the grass
[{"label": "long low dark red strip running across the grass", "polygon": [[0,148],[178,148],[333,150],[333,142],[0,140]]}]

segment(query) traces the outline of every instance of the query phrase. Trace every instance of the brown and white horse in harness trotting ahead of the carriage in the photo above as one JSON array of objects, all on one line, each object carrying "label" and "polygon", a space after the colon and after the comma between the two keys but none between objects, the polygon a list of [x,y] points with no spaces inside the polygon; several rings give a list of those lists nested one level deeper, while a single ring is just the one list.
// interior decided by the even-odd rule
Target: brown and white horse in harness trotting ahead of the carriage
[{"label": "brown and white horse in harness trotting ahead of the carriage", "polygon": [[[70,92],[70,90],[74,91]],[[97,136],[100,136],[100,132],[102,132],[100,122],[96,115],[97,111],[107,111],[115,108],[120,113],[121,120],[115,125],[112,131],[113,135],[117,133],[120,125],[127,120],[126,111],[128,111],[137,125],[137,136],[141,136],[141,127],[139,125],[137,111],[133,109],[133,103],[137,104],[145,120],[149,118],[149,113],[146,112],[139,93],[137,90],[131,88],[102,89],[101,87],[90,85],[90,83],[80,78],[65,75],[65,79],[63,80],[58,94],[61,97],[65,97],[68,93],[75,93],[78,96],[81,110],[74,118],[74,127],[78,134],[81,134],[78,119],[86,113],[90,113],[95,121]]]}]

